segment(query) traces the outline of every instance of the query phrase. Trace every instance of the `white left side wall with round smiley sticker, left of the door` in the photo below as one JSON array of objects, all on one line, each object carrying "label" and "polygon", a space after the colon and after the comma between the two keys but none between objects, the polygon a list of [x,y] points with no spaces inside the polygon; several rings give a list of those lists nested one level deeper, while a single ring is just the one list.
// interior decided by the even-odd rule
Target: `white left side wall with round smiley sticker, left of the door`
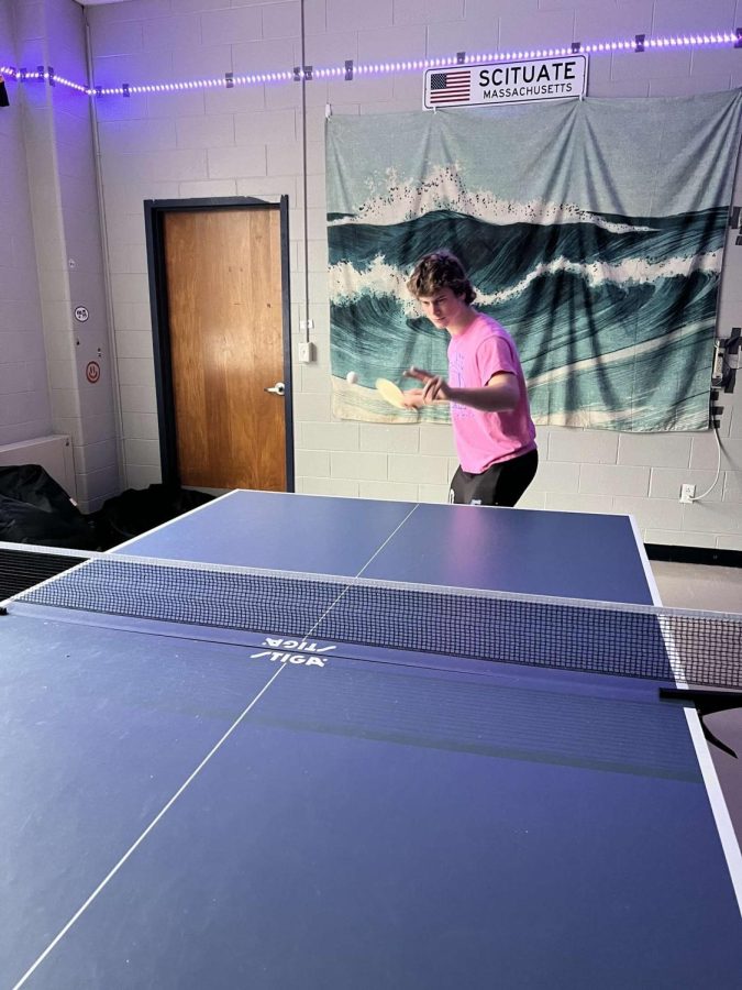
[{"label": "white left side wall with round smiley sticker, left of the door", "polygon": [[[51,66],[57,76],[86,80],[86,25],[77,3],[3,0],[3,9],[7,36],[14,40],[12,64]],[[18,287],[3,286],[0,305],[15,301],[20,290],[33,290],[35,308],[29,307],[27,324],[19,322],[27,327],[29,352],[41,359],[35,388],[23,399],[44,413],[45,421],[37,425],[33,417],[23,422],[22,433],[16,429],[11,436],[13,420],[25,415],[14,393],[5,397],[11,408],[1,421],[8,442],[52,432],[71,437],[75,481],[68,494],[84,512],[92,512],[120,491],[121,479],[91,106],[87,96],[64,86],[10,82],[9,89],[11,107],[3,110],[0,127],[8,117],[14,131],[19,167],[8,195],[16,204],[13,241],[26,250],[22,270],[11,273]],[[85,322],[75,319],[78,306],[88,310]],[[16,339],[21,331],[12,309],[8,319],[7,332]],[[91,362],[100,371],[89,380]],[[9,387],[15,381],[18,388],[29,376],[19,373],[14,380],[16,369],[8,363]]]}]

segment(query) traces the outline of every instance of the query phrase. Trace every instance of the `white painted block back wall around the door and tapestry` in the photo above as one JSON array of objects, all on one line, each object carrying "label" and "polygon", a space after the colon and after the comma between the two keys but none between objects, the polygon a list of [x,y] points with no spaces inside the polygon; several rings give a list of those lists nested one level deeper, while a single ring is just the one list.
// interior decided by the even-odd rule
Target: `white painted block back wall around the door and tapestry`
[{"label": "white painted block back wall around the door and tapestry", "polygon": [[[73,2],[73,0],[58,0]],[[298,0],[128,0],[89,7],[95,82],[155,82],[224,73],[285,70],[301,62]],[[306,0],[306,62],[374,63],[550,44],[733,30],[742,0]],[[742,85],[742,50],[593,56],[594,97],[674,96]],[[307,201],[300,86],[154,94],[97,101],[108,271],[126,483],[159,480],[144,199],[289,196],[292,336],[304,319],[304,271],[314,364],[295,362],[297,490],[375,498],[444,501],[455,466],[450,428],[333,421],[324,227],[325,105],[333,113],[419,110],[419,74],[307,86]],[[742,201],[742,183],[737,202]],[[303,223],[309,229],[304,258]],[[742,248],[728,251],[720,329],[742,322]],[[742,377],[724,396],[721,475],[711,433],[661,436],[546,429],[525,506],[632,513],[644,539],[742,550]]]}]

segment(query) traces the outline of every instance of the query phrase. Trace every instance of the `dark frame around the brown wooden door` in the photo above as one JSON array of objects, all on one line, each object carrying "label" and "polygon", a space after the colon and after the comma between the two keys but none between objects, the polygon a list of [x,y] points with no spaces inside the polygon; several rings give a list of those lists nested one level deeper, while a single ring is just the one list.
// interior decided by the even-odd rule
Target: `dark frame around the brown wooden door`
[{"label": "dark frame around the brown wooden door", "polygon": [[177,438],[175,435],[175,400],[173,396],[173,365],[170,362],[170,319],[167,302],[167,272],[165,266],[165,216],[173,212],[196,212],[222,209],[274,209],[280,211],[281,323],[284,338],[284,410],[286,424],[286,491],[294,492],[294,389],[291,383],[291,300],[289,278],[288,196],[278,202],[252,196],[226,196],[207,199],[146,199],[144,227],[147,243],[149,277],[149,310],[155,354],[155,391],[159,460],[165,484],[180,484]]}]

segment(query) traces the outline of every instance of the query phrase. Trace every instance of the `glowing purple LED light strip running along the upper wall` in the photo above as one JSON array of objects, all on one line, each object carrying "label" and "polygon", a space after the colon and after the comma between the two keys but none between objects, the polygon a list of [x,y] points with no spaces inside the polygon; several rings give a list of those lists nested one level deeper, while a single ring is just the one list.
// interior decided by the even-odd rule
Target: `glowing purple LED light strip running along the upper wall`
[{"label": "glowing purple LED light strip running along the upper wall", "polygon": [[[641,50],[663,51],[667,48],[713,48],[720,46],[733,45],[742,48],[742,30],[734,32],[719,32],[709,34],[682,34],[674,37],[642,37]],[[623,38],[618,41],[595,42],[579,46],[579,54],[584,55],[603,55],[612,52],[636,52],[638,38]],[[462,61],[458,56],[450,56],[444,58],[418,58],[409,62],[383,62],[369,65],[354,65],[353,73],[355,76],[374,76],[388,75],[390,73],[414,73],[430,68],[441,68],[444,66],[455,65],[476,65],[478,63],[488,62],[520,62],[524,58],[554,58],[576,54],[575,48],[538,48],[532,51],[519,52],[483,52],[475,55],[466,55]],[[312,69],[312,78],[314,79],[337,79],[346,77],[346,67],[330,66],[328,68]],[[291,82],[295,81],[296,75],[294,70],[283,73],[256,73],[245,76],[226,76],[212,79],[189,79],[182,82],[149,82],[143,85],[122,85],[122,86],[82,86],[66,79],[64,76],[57,76],[49,72],[26,72],[25,69],[16,69],[12,66],[0,65],[0,74],[8,79],[14,79],[19,82],[29,81],[31,79],[45,79],[53,81],[56,86],[66,86],[87,96],[133,96],[134,94],[149,92],[181,92],[184,90],[193,89],[224,89],[233,86],[263,86],[273,82]]]}]

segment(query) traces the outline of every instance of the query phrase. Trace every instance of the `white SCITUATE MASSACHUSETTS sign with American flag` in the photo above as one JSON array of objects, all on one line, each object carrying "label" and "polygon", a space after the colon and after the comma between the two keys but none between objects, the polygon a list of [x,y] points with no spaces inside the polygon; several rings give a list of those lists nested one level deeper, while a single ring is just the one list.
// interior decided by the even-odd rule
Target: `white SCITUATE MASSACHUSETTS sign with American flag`
[{"label": "white SCITUATE MASSACHUSETTS sign with American flag", "polygon": [[423,107],[483,107],[564,100],[587,92],[587,55],[428,69]]}]

